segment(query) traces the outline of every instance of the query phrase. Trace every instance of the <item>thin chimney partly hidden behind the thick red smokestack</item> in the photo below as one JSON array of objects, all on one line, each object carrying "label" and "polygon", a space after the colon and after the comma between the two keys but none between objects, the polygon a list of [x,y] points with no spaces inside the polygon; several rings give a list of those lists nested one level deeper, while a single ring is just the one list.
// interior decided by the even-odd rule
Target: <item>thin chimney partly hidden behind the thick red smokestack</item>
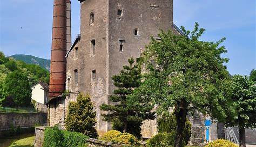
[{"label": "thin chimney partly hidden behind the thick red smokestack", "polygon": [[66,52],[71,47],[71,1],[66,0]]}]

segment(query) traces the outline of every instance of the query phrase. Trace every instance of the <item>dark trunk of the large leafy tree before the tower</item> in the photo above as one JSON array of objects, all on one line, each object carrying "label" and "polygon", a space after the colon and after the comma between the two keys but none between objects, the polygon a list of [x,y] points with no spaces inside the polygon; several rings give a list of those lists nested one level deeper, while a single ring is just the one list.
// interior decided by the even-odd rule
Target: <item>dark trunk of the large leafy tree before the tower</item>
[{"label": "dark trunk of the large leafy tree before the tower", "polygon": [[186,123],[186,116],[187,116],[187,102],[185,99],[182,99],[180,104],[176,106],[175,115],[176,115],[176,122],[177,122],[177,129],[176,129],[176,136],[174,147],[181,147],[182,142],[184,139],[183,132]]}]

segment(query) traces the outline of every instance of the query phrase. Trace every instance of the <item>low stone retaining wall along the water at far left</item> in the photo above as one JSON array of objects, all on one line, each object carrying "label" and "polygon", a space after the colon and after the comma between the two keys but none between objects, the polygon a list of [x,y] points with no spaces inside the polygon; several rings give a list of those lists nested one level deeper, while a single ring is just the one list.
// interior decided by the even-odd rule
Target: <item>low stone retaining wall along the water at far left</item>
[{"label": "low stone retaining wall along the water at far left", "polygon": [[0,113],[0,131],[14,128],[35,127],[47,125],[47,113]]}]

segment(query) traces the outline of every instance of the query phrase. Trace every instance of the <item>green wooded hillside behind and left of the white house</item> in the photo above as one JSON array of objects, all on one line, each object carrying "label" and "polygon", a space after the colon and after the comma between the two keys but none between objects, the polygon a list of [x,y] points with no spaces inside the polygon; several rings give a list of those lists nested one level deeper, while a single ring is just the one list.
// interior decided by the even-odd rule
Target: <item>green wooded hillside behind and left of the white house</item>
[{"label": "green wooded hillside behind and left of the white house", "polygon": [[0,52],[0,105],[29,106],[30,86],[39,80],[49,84],[49,76],[49,71],[39,65],[16,61]]}]

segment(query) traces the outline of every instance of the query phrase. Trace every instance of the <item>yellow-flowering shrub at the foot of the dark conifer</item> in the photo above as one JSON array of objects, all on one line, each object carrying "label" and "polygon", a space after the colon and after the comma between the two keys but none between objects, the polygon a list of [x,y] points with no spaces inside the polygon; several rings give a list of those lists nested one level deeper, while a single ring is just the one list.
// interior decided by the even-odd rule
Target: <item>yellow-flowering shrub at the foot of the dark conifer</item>
[{"label": "yellow-flowering shrub at the foot of the dark conifer", "polygon": [[120,143],[120,144],[126,144],[126,145],[138,145],[138,139],[129,133],[121,133],[117,130],[111,130],[108,131],[103,135],[102,141],[106,142],[113,142],[113,143]]}]

